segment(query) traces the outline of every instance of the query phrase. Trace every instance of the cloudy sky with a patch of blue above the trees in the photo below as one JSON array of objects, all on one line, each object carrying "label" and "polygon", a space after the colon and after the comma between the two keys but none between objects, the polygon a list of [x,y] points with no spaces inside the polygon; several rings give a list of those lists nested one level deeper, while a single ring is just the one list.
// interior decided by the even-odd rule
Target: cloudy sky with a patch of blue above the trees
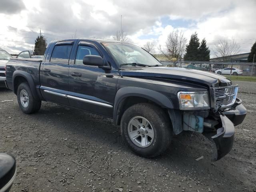
[{"label": "cloudy sky with a patch of blue above the trees", "polygon": [[[47,41],[107,38],[123,30],[129,41],[165,45],[176,28],[186,38],[206,38],[214,57],[218,40],[234,38],[240,52],[256,41],[256,0],[1,0],[0,47],[15,54],[32,50],[40,32]],[[156,49],[157,51],[157,49]]]}]

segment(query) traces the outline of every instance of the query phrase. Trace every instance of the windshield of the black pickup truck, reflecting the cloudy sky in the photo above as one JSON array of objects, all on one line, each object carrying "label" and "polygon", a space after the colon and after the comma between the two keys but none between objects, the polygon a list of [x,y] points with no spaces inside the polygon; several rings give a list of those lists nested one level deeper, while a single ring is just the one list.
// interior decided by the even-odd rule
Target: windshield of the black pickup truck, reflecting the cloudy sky
[{"label": "windshield of the black pickup truck, reflecting the cloudy sky", "polygon": [[[113,56],[119,67],[134,66],[134,64],[142,64],[145,66],[162,66],[151,54],[144,49],[127,43],[102,43],[106,50]],[[121,51],[122,47],[122,51]]]}]

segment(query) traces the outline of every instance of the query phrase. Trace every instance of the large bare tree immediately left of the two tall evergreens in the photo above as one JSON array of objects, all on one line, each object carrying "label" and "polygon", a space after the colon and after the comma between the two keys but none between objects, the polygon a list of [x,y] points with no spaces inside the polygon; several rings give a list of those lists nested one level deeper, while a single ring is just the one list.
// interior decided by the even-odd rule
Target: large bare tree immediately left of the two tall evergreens
[{"label": "large bare tree immediately left of the two tall evergreens", "polygon": [[166,48],[159,46],[159,50],[168,60],[176,58],[181,61],[181,58],[185,52],[187,39],[184,37],[182,30],[172,31],[167,38]]}]

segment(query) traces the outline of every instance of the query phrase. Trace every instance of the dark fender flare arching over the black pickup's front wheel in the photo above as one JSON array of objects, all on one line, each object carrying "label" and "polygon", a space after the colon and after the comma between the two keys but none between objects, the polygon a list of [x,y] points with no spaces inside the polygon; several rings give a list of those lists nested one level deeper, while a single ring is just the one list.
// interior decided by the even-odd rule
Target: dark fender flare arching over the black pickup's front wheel
[{"label": "dark fender flare arching over the black pickup's front wheel", "polygon": [[119,104],[124,98],[129,97],[129,96],[138,96],[138,97],[146,98],[164,108],[168,108],[168,109],[174,108],[170,98],[168,98],[167,96],[165,96],[164,94],[162,94],[160,92],[156,92],[156,91],[146,89],[146,88],[139,88],[139,87],[120,88],[116,92],[116,97],[115,97],[115,102],[114,102],[113,119],[114,119],[115,125],[118,124],[118,122],[121,118],[120,115],[118,114]]}]

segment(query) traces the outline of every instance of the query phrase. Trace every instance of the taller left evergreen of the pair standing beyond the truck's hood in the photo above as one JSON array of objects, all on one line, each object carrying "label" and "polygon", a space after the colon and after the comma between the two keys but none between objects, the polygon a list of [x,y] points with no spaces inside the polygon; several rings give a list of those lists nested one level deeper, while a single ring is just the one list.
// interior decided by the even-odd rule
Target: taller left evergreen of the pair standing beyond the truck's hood
[{"label": "taller left evergreen of the pair standing beyond the truck's hood", "polygon": [[186,61],[198,61],[200,52],[199,52],[200,42],[197,37],[197,33],[191,35],[189,44],[186,46],[186,54],[184,55],[184,60]]}]

